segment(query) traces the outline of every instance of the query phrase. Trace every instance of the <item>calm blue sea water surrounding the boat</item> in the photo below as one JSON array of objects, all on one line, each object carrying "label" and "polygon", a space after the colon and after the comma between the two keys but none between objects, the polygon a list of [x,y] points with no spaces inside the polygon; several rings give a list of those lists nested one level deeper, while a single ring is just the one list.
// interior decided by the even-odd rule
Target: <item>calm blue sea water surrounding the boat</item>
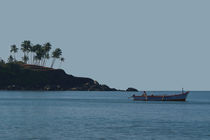
[{"label": "calm blue sea water surrounding the boat", "polygon": [[210,139],[210,92],[191,92],[187,102],[132,101],[132,94],[1,91],[0,139]]}]

